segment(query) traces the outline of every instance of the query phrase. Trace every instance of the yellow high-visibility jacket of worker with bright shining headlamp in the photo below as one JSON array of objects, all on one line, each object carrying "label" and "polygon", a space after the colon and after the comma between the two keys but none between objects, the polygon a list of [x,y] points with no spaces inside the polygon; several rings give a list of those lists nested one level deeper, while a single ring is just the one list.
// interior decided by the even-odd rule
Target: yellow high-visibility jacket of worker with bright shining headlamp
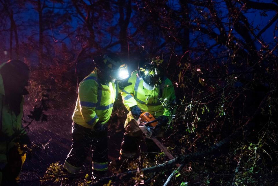
[{"label": "yellow high-visibility jacket of worker with bright shining headlamp", "polygon": [[109,86],[101,84],[98,81],[97,71],[98,69],[95,68],[80,82],[72,115],[75,123],[91,129],[94,129],[98,121],[102,121],[102,124],[108,122],[116,100],[114,83],[109,83]]}]

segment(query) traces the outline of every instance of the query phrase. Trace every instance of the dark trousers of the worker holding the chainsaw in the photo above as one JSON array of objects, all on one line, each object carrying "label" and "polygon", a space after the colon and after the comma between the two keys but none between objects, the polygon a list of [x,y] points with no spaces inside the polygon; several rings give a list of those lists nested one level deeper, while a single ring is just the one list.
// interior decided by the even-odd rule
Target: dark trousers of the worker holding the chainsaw
[{"label": "dark trousers of the worker holding the chainsaw", "polygon": [[[139,142],[142,137],[142,131],[138,127],[138,124],[135,120],[131,119],[125,127],[124,138],[122,140],[120,157],[128,158],[135,156],[139,150]],[[164,134],[164,131],[161,131],[156,137],[160,138]],[[144,135],[144,134],[143,134]],[[155,155],[160,152],[160,148],[148,138],[145,138],[147,145],[147,152],[150,159],[153,159]]]}]

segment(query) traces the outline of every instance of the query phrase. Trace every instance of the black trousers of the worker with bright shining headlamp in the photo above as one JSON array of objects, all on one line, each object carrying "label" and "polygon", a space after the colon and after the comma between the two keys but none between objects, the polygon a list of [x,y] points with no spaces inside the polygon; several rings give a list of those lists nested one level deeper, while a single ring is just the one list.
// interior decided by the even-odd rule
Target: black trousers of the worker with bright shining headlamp
[{"label": "black trousers of the worker with bright shining headlamp", "polygon": [[75,174],[83,165],[89,150],[92,148],[92,168],[95,171],[107,171],[107,128],[103,131],[92,131],[72,123],[72,149],[65,160],[64,169]]}]

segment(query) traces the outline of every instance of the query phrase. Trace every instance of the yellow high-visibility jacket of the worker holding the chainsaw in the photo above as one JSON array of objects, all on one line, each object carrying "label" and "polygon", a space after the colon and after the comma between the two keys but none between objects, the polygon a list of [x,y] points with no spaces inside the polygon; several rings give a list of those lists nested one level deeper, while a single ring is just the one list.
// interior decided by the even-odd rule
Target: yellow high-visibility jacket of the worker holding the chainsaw
[{"label": "yellow high-visibility jacket of the worker holding the chainsaw", "polygon": [[[164,77],[162,83],[155,87],[153,90],[148,90],[143,87],[143,80],[139,78],[137,72],[131,74],[128,82],[132,83],[126,86],[122,92],[122,100],[130,111],[130,107],[138,105],[142,112],[148,111],[155,117],[165,115],[172,116],[175,113],[175,107],[163,105],[163,102],[173,105],[176,102],[175,90],[171,80]],[[127,120],[125,121],[125,127],[127,123],[133,119],[131,112],[127,115]]]}]

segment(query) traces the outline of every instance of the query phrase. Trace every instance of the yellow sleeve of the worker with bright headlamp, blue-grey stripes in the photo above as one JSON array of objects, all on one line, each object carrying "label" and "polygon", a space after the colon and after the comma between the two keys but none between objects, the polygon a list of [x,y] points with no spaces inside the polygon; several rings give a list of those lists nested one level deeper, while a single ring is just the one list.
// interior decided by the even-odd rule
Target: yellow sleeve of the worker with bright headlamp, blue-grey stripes
[{"label": "yellow sleeve of the worker with bright headlamp, blue-grey stripes", "polygon": [[99,120],[95,112],[98,102],[98,83],[95,80],[83,80],[79,84],[78,101],[83,120],[94,126]]}]

